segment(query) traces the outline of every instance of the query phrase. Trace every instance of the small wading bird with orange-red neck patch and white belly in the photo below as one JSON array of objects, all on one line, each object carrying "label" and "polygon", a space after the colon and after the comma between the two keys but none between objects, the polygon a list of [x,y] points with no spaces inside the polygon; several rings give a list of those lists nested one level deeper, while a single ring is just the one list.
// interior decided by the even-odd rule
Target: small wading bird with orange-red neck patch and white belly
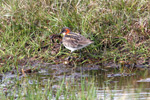
[{"label": "small wading bird with orange-red neck patch and white belly", "polygon": [[80,50],[80,57],[81,57],[81,49],[94,43],[90,39],[82,36],[80,33],[72,32],[70,28],[64,27],[62,28],[61,33],[63,35],[62,44],[69,50],[71,50],[71,54],[69,55],[68,59],[72,53],[76,50]]}]

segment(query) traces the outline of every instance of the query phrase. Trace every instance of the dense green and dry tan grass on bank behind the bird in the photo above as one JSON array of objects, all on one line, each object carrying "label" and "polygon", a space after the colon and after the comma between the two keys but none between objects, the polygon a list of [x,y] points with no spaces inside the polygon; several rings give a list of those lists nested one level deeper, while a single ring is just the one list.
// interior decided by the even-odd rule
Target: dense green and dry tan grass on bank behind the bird
[{"label": "dense green and dry tan grass on bank behind the bird", "polygon": [[[135,63],[141,57],[146,59],[150,56],[149,4],[149,0],[1,1],[1,69],[10,70],[8,67],[30,58],[55,64],[56,56],[51,54],[55,44],[49,36],[65,26],[94,41],[82,50],[82,58],[89,56],[91,60],[75,63]],[[42,49],[47,45],[47,49]],[[69,53],[62,47],[56,55],[64,59]]]}]

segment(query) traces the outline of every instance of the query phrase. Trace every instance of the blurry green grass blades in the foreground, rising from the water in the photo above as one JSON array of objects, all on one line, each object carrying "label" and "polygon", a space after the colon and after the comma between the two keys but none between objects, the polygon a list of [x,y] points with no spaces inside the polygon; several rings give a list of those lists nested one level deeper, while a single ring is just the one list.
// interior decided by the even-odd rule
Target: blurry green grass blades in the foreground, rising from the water
[{"label": "blurry green grass blades in the foreground, rising from the water", "polygon": [[[10,80],[7,79],[5,81]],[[3,88],[1,87],[2,90],[0,93],[0,99],[95,100],[97,97],[94,81],[88,82],[85,78],[81,78],[79,83],[76,83],[75,79],[65,80],[65,78],[60,80],[58,83],[53,83],[52,79],[47,79],[47,82],[45,81],[44,84],[38,79],[30,79],[29,77],[22,77],[21,80],[16,79],[13,81],[15,81],[13,84],[7,84],[7,86],[4,86],[4,91],[2,91]]]}]

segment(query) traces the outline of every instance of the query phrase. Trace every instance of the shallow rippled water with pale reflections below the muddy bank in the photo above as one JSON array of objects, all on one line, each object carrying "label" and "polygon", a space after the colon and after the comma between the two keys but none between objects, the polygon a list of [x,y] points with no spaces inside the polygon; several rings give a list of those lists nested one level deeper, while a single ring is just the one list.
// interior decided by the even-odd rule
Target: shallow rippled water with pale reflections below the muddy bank
[{"label": "shallow rippled water with pale reflections below the muddy bank", "polygon": [[[81,78],[87,78],[88,82],[94,82],[97,98],[102,98],[102,100],[150,99],[150,74],[148,70],[105,69],[96,65],[72,67],[63,64],[45,64],[35,68],[36,71],[26,73],[26,80],[31,85],[37,82],[44,86],[49,79],[52,79],[52,87],[55,89],[59,87],[57,83],[63,79],[65,81],[75,80],[75,82],[70,82],[70,85],[75,85],[80,84]],[[26,69],[29,69],[29,67]],[[12,88],[15,84],[15,78],[21,80],[23,77],[24,75],[16,70],[1,75],[0,91],[6,92],[9,87]]]}]

